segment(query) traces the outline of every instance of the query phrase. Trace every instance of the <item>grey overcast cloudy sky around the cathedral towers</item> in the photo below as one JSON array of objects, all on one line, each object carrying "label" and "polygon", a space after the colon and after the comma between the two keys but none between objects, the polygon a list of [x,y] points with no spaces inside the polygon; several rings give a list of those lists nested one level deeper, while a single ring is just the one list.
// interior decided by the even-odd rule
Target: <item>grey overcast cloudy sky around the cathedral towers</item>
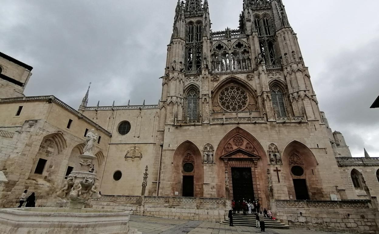
[{"label": "grey overcast cloudy sky around the cathedral towers", "polygon": [[[208,0],[212,29],[238,27],[242,0]],[[177,0],[1,0],[0,51],[34,67],[27,96],[77,108],[156,104]],[[283,0],[321,110],[354,156],[379,157],[377,0]]]}]

